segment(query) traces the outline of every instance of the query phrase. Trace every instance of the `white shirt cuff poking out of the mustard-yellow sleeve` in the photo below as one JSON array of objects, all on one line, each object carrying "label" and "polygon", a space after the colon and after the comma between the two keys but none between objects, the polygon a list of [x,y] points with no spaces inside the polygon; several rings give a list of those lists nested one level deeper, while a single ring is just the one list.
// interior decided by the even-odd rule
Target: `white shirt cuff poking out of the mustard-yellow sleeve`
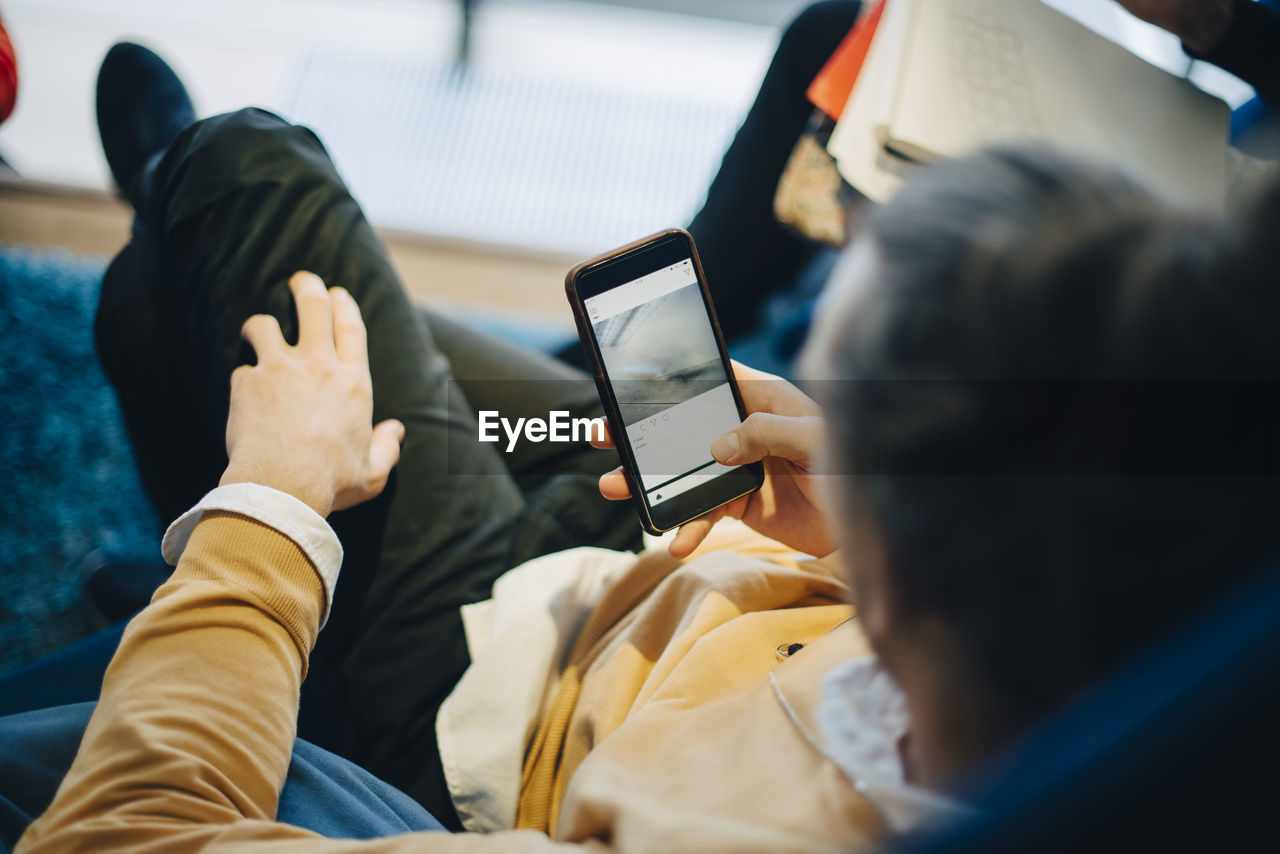
[{"label": "white shirt cuff poking out of the mustard-yellow sleeve", "polygon": [[170,565],[178,565],[191,533],[196,530],[206,510],[248,516],[293,540],[311,561],[324,585],[324,613],[320,616],[320,626],[324,627],[329,618],[329,607],[333,604],[333,590],[338,586],[338,572],[342,570],[342,543],[324,516],[293,495],[261,484],[218,487],[175,519],[164,533],[160,552]]}]

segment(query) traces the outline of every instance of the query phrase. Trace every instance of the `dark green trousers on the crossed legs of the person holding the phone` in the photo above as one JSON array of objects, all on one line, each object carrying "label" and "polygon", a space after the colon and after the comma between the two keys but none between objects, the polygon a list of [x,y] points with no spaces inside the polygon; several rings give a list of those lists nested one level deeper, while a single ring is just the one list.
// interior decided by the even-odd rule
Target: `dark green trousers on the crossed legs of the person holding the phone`
[{"label": "dark green trousers on the crossed legs of the person holding the phone", "polygon": [[296,270],[360,303],[374,419],[399,419],[406,437],[387,492],[330,520],[346,558],[300,735],[456,826],[435,716],[470,663],[460,606],[531,557],[640,542],[634,511],[596,492],[611,453],[527,444],[507,456],[477,442],[468,396],[503,415],[598,415],[590,380],[416,310],[319,140],[274,115],[192,125],[129,189],[137,225],[104,279],[95,332],[164,520],[225,467],[229,376],[252,359],[244,320],[271,314],[296,341]]}]

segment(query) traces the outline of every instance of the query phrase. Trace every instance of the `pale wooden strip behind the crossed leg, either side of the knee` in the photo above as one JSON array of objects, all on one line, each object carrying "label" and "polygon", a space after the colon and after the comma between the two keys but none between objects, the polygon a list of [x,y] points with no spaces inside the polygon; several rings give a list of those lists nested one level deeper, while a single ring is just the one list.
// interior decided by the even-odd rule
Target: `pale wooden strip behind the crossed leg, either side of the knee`
[{"label": "pale wooden strip behind the crossed leg, either side of the knee", "polygon": [[[128,239],[129,222],[128,206],[106,193],[0,182],[0,243],[110,256]],[[564,271],[575,259],[416,234],[383,233],[383,238],[416,301],[445,311],[485,310],[572,329],[563,288]]]}]

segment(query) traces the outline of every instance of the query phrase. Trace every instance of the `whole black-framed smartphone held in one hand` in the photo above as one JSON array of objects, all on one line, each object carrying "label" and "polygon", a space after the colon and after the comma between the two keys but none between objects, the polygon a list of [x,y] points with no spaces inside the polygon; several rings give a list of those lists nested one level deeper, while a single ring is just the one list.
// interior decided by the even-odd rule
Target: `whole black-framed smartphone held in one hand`
[{"label": "whole black-framed smartphone held in one hand", "polygon": [[759,489],[760,463],[712,457],[746,410],[689,232],[582,261],[564,291],[644,529],[669,531]]}]

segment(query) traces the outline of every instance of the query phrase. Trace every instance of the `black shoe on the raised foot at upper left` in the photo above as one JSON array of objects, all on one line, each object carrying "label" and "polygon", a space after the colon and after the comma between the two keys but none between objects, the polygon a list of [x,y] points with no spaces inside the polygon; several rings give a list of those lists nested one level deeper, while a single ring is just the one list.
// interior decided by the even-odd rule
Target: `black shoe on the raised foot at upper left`
[{"label": "black shoe on the raised foot at upper left", "polygon": [[97,72],[97,132],[122,193],[195,120],[187,88],[163,59],[129,42],[108,51]]}]

